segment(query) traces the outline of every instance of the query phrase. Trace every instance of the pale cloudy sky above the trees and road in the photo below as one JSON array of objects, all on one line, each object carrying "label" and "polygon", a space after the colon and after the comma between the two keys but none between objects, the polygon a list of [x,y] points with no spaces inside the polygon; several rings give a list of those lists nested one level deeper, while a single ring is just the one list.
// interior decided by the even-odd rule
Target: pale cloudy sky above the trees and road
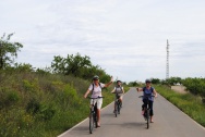
[{"label": "pale cloudy sky above the trees and road", "polygon": [[88,55],[114,79],[205,75],[204,0],[0,0],[0,36],[24,47],[19,63]]}]

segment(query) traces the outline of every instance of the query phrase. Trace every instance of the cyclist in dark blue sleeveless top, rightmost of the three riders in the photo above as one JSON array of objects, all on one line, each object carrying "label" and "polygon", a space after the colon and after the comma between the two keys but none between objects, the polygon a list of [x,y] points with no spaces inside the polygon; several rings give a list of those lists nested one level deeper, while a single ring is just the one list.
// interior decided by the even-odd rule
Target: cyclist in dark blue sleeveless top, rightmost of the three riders
[{"label": "cyclist in dark blue sleeveless top, rightmost of the three riders", "polygon": [[[143,96],[155,96],[157,97],[157,91],[155,90],[154,87],[152,87],[152,80],[150,79],[146,79],[145,80],[145,84],[146,86],[143,87],[143,88],[138,88],[136,87],[136,90],[137,91],[143,91]],[[144,114],[144,107],[147,105],[147,102],[146,102],[146,99],[143,98],[143,102],[144,104],[142,105],[142,114]],[[153,115],[154,115],[154,112],[153,112],[153,103],[154,103],[154,98],[153,97],[149,97],[148,98],[148,107],[150,109],[150,123],[153,123]]]}]

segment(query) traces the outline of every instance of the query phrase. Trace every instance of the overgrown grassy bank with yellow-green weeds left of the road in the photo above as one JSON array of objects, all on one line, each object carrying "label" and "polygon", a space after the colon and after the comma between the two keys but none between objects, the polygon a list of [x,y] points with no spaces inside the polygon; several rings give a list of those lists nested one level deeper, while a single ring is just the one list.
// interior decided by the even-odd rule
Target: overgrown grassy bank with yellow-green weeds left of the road
[{"label": "overgrown grassy bank with yellow-green weeds left of the road", "polygon": [[[56,137],[86,119],[91,82],[63,75],[0,72],[0,136]],[[104,107],[113,84],[102,89]],[[128,90],[128,87],[125,87]]]}]

